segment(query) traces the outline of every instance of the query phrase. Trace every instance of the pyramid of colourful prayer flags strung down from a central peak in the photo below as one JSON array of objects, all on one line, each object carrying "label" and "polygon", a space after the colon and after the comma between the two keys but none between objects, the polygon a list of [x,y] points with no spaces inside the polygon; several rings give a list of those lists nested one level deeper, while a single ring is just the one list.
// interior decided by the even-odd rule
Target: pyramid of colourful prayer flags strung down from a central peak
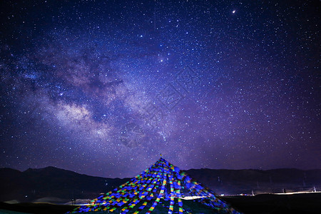
[{"label": "pyramid of colourful prayer flags strung down from a central peak", "polygon": [[195,200],[206,205],[210,213],[238,213],[163,158],[127,183],[68,213],[153,213],[156,206],[169,214],[191,213],[183,206],[183,201],[187,200],[182,199],[187,196],[197,198]]}]

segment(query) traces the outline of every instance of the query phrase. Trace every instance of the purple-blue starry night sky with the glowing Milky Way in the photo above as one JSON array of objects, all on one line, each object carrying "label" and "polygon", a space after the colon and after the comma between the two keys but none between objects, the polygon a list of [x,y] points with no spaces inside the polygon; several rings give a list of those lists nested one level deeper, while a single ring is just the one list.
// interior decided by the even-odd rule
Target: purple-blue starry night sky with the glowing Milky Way
[{"label": "purple-blue starry night sky with the glowing Milky Way", "polygon": [[320,1],[0,8],[1,168],[321,168]]}]

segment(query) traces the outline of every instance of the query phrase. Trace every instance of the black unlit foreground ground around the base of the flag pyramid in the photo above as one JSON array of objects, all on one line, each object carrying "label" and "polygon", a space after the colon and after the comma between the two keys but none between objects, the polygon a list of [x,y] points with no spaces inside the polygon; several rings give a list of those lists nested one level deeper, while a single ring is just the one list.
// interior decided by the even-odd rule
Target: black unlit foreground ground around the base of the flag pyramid
[{"label": "black unlit foreground ground around the base of the flag pyramid", "polygon": [[[321,213],[321,193],[307,193],[294,195],[255,195],[255,196],[233,196],[222,198],[230,203],[236,210],[243,213]],[[203,205],[193,204],[193,201],[185,203],[189,208],[195,209],[195,213],[213,213],[203,208]],[[0,203],[0,213],[39,213],[59,214],[73,210],[72,205],[53,205],[46,203]],[[157,208],[157,207],[156,207]],[[156,213],[167,213],[165,210],[155,210]]]}]

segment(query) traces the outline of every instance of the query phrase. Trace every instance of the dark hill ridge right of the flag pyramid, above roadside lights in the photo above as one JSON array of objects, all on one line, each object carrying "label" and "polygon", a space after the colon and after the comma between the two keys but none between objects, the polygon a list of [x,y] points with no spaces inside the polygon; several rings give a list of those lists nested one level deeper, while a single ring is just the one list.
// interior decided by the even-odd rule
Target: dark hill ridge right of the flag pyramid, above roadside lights
[{"label": "dark hill ridge right of the flag pyramid, above roadside lights", "polygon": [[274,170],[190,169],[186,173],[217,194],[320,191],[321,170],[283,168]]}]

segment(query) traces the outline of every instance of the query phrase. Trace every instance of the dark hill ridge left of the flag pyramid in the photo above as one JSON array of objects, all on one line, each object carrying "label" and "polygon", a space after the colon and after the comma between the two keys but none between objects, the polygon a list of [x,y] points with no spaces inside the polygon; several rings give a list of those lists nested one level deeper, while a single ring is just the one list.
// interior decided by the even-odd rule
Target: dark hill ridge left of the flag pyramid
[{"label": "dark hill ridge left of the flag pyramid", "polygon": [[93,177],[51,166],[29,168],[24,172],[0,168],[0,201],[16,199],[31,202],[44,197],[67,200],[96,198],[100,193],[107,193],[129,179]]}]

